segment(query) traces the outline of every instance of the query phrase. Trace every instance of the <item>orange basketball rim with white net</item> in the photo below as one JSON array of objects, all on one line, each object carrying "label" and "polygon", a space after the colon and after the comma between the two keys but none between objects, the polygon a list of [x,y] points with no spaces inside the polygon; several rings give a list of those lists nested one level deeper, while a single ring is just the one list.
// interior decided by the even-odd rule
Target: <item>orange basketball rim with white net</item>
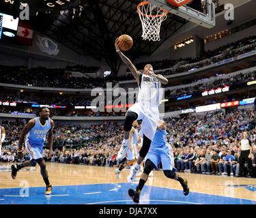
[{"label": "orange basketball rim with white net", "polygon": [[139,3],[137,12],[141,19],[143,40],[160,41],[160,27],[169,12],[147,1]]}]

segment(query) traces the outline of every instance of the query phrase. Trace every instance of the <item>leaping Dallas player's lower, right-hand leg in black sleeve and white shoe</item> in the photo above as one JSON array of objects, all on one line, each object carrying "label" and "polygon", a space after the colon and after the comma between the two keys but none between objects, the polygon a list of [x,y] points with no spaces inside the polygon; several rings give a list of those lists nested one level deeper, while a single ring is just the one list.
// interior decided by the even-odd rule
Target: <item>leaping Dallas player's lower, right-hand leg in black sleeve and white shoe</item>
[{"label": "leaping Dallas player's lower, right-hand leg in black sleeve and white shoe", "polygon": [[130,174],[127,178],[128,183],[131,183],[136,178],[136,174],[139,170],[139,166],[143,162],[143,159],[145,159],[148,151],[150,150],[150,144],[151,140],[147,138],[147,136],[143,135],[143,144],[141,146],[141,150],[139,151],[139,158],[137,159],[137,162],[132,166],[130,170]]}]

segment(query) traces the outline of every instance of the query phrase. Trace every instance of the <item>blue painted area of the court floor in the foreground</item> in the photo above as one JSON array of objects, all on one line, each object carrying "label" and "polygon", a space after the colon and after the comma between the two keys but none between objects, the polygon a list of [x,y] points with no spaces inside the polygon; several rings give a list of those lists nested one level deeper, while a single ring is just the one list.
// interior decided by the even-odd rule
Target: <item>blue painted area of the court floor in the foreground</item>
[{"label": "blue painted area of the court floor in the foreground", "polygon": [[[128,183],[53,186],[53,195],[45,196],[45,187],[29,188],[29,196],[19,196],[21,188],[0,189],[0,204],[134,204],[128,196]],[[23,193],[21,191],[21,193]],[[90,193],[90,194],[85,194]],[[145,186],[140,204],[256,204],[256,201],[210,194]]]}]

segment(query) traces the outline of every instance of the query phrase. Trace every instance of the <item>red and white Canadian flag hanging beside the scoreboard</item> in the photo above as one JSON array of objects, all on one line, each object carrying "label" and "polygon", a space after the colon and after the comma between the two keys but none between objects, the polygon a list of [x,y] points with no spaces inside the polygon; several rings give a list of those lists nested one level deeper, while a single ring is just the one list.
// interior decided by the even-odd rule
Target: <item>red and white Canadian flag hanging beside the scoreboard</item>
[{"label": "red and white Canadian flag hanging beside the scoreboard", "polygon": [[18,44],[21,44],[23,46],[32,46],[33,27],[27,24],[27,22],[20,21],[18,23],[16,40]]}]

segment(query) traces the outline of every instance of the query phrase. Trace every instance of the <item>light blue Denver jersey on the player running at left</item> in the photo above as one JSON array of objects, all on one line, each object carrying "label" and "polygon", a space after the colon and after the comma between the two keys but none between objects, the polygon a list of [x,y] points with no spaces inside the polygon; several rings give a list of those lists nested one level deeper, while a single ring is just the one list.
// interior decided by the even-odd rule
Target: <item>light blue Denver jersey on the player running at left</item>
[{"label": "light blue Denver jersey on the player running at left", "polygon": [[26,136],[26,142],[31,146],[44,146],[47,132],[51,129],[51,119],[46,120],[45,124],[40,123],[39,117],[35,117],[35,125]]}]

